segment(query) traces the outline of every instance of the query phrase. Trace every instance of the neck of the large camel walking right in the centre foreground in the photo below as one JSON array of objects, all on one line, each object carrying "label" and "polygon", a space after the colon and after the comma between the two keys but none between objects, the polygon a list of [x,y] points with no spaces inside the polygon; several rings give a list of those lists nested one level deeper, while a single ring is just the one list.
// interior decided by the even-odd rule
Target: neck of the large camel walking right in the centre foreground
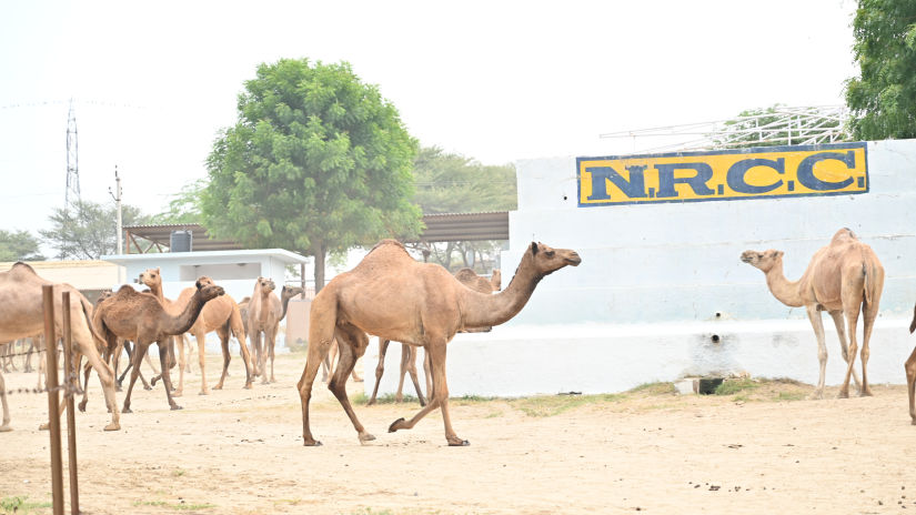
[{"label": "neck of the large camel walking right in the centre foreground", "polygon": [[515,276],[502,292],[486,294],[462,290],[462,326],[489,327],[509,322],[527,304],[543,277],[534,271],[531,254],[526,252]]}]

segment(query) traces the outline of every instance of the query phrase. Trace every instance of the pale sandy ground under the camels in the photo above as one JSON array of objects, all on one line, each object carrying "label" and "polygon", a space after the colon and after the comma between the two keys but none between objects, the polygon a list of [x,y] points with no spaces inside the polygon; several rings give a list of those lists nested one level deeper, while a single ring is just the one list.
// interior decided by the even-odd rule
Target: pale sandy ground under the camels
[{"label": "pale sandy ground under the camels", "polygon": [[[219,356],[209,359],[212,385]],[[916,512],[916,427],[899,385],[876,385],[870,398],[824,401],[798,400],[813,388],[783,383],[726,396],[646,388],[590,398],[453,400],[455,430],[469,447],[445,446],[439,412],[413,431],[386,433],[416,404],[358,405],[378,436],[361,446],[319,386],[312,431],[324,446],[304,447],[295,390],[304,361],[279,356],[278,383],[245,391],[234,359],[227,388],[209,396],[197,395],[192,374],[180,412],[168,410],[161,385],[135,391],[134,413],[122,415],[117,433],[101,431],[108,414],[93,377],[88,413],[77,416],[82,511]],[[7,374],[8,388],[34,381]],[[351,391],[362,384],[351,383]],[[10,403],[14,431],[0,434],[0,499],[47,503],[49,436],[37,431],[47,397],[18,395]]]}]

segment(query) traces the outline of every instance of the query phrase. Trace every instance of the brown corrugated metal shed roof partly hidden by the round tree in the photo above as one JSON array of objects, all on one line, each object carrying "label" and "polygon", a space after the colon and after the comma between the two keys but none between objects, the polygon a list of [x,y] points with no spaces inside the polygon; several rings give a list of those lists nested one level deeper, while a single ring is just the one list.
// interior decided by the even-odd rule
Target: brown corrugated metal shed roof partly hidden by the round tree
[{"label": "brown corrugated metal shed roof partly hidden by the round tree", "polygon": [[[407,241],[449,242],[509,240],[509,211],[490,211],[485,213],[442,213],[424,214],[426,230],[416,239]],[[213,240],[204,228],[197,223],[172,223],[161,225],[125,225],[128,241],[127,253],[145,253],[152,248],[168,252],[172,231],[191,231],[192,251],[242,250],[240,243],[232,240]],[[148,242],[138,242],[137,238]]]}]

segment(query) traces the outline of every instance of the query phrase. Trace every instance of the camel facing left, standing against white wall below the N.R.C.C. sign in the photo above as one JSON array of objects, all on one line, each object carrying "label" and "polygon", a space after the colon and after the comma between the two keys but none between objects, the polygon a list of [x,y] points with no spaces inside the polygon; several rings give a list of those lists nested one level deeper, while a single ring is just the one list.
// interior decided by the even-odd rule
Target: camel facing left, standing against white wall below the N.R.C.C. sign
[{"label": "camel facing left, standing against white wall below the N.R.C.C. sign", "polygon": [[[839,336],[843,359],[846,361],[846,375],[839,387],[839,397],[849,396],[849,376],[855,380],[860,396],[872,395],[868,387],[868,342],[875,317],[878,315],[882,289],[884,286],[884,267],[870,246],[862,243],[849,229],[840,229],[831,243],[818,250],[811,260],[802,279],[788,281],[783,275],[783,252],[745,251],[741,260],[759,269],[766,274],[766,284],[779,302],[792,307],[805,306],[814,334],[817,337],[817,359],[821,362],[821,376],[813,398],[824,396],[824,373],[827,367],[827,347],[824,344],[824,324],[821,311],[831,314]],[[853,367],[856,361],[856,324],[859,311],[864,317],[862,340],[862,383]],[[849,345],[846,345],[844,315],[848,324]]]}]

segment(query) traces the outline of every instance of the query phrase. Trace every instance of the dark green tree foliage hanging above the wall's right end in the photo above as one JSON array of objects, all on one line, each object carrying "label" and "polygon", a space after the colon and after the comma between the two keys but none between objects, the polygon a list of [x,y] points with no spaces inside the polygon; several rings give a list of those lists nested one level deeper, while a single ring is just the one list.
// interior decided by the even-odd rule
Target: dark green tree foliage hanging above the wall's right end
[{"label": "dark green tree foliage hanging above the wall's right end", "polygon": [[853,33],[859,77],[846,82],[857,140],[916,138],[916,2],[859,0]]}]

